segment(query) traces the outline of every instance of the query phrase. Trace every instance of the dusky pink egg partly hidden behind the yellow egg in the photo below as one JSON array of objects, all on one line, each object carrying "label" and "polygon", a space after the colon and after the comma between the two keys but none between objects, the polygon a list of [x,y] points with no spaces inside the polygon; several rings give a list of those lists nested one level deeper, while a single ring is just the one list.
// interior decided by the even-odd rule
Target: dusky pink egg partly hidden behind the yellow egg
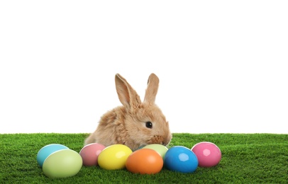
[{"label": "dusky pink egg partly hidden behind the yellow egg", "polygon": [[82,157],[84,166],[98,166],[98,156],[105,148],[103,144],[92,143],[84,146],[79,154]]}]

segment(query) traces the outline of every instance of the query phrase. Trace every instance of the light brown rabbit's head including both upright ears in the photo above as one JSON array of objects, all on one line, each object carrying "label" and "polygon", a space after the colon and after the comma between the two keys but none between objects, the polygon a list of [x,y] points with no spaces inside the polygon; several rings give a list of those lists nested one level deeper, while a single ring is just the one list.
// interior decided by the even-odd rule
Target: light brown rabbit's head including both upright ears
[{"label": "light brown rabbit's head including both upright ears", "polygon": [[155,104],[158,77],[150,74],[143,102],[120,74],[116,74],[115,81],[118,98],[126,110],[125,125],[129,138],[139,146],[169,144],[172,139],[169,124],[162,110]]}]

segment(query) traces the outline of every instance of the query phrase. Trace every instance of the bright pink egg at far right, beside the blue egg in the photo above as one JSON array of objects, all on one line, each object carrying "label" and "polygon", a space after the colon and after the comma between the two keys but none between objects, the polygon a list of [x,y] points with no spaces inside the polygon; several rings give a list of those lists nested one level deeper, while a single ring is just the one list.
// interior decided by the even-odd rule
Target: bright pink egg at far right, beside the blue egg
[{"label": "bright pink egg at far right, beside the blue egg", "polygon": [[213,167],[221,161],[221,150],[212,142],[199,142],[191,150],[196,154],[200,167]]}]

